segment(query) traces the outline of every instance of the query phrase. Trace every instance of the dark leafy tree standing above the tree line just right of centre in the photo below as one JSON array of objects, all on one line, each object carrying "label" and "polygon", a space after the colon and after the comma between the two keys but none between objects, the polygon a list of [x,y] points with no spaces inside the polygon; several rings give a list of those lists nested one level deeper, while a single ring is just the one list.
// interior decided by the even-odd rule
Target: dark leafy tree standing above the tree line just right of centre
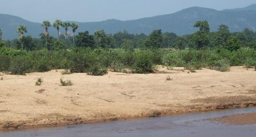
[{"label": "dark leafy tree standing above the tree line just right of centre", "polygon": [[162,30],[153,30],[144,42],[145,48],[160,48],[163,44]]}]

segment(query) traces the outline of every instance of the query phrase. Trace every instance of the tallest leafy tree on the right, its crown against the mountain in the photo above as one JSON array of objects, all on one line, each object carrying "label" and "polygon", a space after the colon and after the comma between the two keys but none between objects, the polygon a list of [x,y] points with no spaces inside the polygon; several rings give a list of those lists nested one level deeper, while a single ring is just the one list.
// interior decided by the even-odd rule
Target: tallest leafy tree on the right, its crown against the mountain
[{"label": "tallest leafy tree on the right, its crown against the mountain", "polygon": [[197,49],[206,48],[209,44],[209,33],[210,33],[210,26],[208,22],[205,21],[197,21],[194,27],[199,28],[199,31],[194,33],[193,39],[197,45]]}]

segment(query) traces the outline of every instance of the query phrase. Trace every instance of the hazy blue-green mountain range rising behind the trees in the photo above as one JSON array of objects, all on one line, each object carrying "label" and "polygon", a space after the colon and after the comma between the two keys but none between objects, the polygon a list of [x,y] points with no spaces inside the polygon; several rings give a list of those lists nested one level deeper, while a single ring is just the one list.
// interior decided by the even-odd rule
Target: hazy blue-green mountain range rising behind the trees
[{"label": "hazy blue-green mountain range rising behind the trees", "polygon": [[[211,31],[216,31],[221,24],[228,25],[231,32],[242,31],[244,28],[256,31],[256,4],[222,11],[191,7],[168,15],[140,18],[138,20],[121,21],[111,19],[99,22],[77,23],[79,25],[78,32],[88,30],[91,34],[96,30],[102,29],[106,33],[112,34],[123,30],[134,34],[149,34],[152,30],[162,29],[163,32],[168,31],[177,35],[185,35],[197,31],[197,28],[193,28],[197,20],[207,20]],[[19,25],[25,25],[28,30],[26,35],[31,35],[35,38],[38,38],[39,34],[44,31],[40,23],[27,21],[12,15],[0,14],[0,28],[3,30],[3,40],[17,38],[16,29]],[[50,27],[49,33],[52,36],[56,36],[56,29]]]}]

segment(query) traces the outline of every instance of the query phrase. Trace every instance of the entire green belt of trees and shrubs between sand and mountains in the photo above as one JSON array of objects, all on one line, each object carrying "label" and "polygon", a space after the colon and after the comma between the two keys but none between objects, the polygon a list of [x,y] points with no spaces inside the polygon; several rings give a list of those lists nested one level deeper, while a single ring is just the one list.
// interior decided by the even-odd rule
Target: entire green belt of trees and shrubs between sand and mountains
[{"label": "entire green belt of trees and shrubs between sand and mountains", "polygon": [[[95,31],[94,35],[88,31],[74,35],[78,28],[76,23],[56,20],[53,26],[57,31],[62,26],[66,33],[55,39],[48,34],[50,25],[49,21],[43,22],[45,34],[40,34],[40,39],[24,36],[26,27],[21,25],[18,28],[20,41],[3,41],[0,71],[24,75],[65,69],[69,71],[63,74],[102,76],[108,70],[153,73],[156,65],[185,67],[190,72],[201,68],[224,72],[230,66],[252,68],[256,64],[256,32],[247,28],[230,33],[228,26],[220,25],[217,32],[210,32],[207,21],[197,21],[194,26],[199,30],[185,36],[161,30],[154,30],[149,36],[127,31],[109,35],[104,30]],[[70,25],[73,36],[68,35]]]}]

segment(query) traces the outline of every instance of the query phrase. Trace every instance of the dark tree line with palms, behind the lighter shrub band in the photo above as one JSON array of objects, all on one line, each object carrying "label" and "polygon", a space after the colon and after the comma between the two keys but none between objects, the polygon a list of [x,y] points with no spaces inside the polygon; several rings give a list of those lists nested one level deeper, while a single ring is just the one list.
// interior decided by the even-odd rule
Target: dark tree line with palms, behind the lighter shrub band
[{"label": "dark tree line with palms, behind the lighter shrub band", "polygon": [[[56,28],[57,38],[51,36],[48,28]],[[193,27],[198,31],[184,36],[178,36],[175,33],[165,32],[162,30],[153,30],[150,35],[129,34],[128,31],[118,32],[116,34],[106,34],[104,30],[95,31],[90,35],[88,31],[79,32],[75,35],[79,28],[77,23],[62,22],[56,20],[53,24],[50,21],[43,21],[44,32],[40,34],[40,38],[31,38],[27,33],[26,26],[20,25],[17,28],[18,39],[2,41],[2,30],[0,29],[0,46],[5,45],[15,49],[40,50],[46,48],[48,50],[59,50],[76,47],[91,48],[177,48],[184,50],[190,49],[206,49],[223,47],[228,50],[238,50],[240,47],[256,48],[256,32],[245,28],[243,32],[230,33],[227,25],[220,25],[218,31],[211,32],[210,25],[207,21],[197,21]],[[72,36],[68,33],[69,27],[72,29]],[[60,34],[60,29],[64,28],[65,34]]]}]

